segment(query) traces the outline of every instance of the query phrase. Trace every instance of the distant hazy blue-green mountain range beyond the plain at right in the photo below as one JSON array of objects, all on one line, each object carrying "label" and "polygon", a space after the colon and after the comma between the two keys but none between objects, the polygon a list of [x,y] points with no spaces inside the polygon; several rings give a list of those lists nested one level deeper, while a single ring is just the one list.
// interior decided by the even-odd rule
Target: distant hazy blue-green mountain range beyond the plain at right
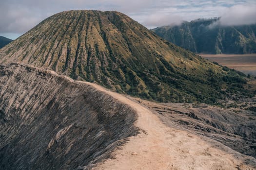
[{"label": "distant hazy blue-green mountain range beyond the plain at right", "polygon": [[256,24],[222,26],[219,19],[197,19],[181,25],[158,27],[152,31],[196,53],[256,53]]}]

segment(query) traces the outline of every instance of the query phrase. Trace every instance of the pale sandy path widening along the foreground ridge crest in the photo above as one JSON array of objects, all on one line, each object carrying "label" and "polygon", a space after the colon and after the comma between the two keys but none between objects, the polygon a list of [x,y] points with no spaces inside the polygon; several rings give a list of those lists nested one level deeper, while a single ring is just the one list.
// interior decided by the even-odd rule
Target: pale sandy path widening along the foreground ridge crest
[{"label": "pale sandy path widening along the foreground ridge crest", "polygon": [[240,153],[214,141],[165,126],[156,115],[138,102],[88,82],[138,112],[136,125],[140,134],[132,136],[122,147],[94,170],[254,170],[243,163]]}]

